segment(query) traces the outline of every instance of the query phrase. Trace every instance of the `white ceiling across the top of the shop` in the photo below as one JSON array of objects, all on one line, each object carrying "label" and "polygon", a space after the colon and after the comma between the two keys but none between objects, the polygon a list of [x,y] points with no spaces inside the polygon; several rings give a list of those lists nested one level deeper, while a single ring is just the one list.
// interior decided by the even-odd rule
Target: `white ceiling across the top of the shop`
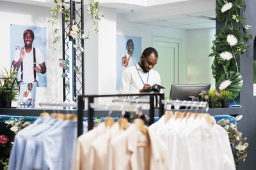
[{"label": "white ceiling across the top of the shop", "polygon": [[[54,0],[0,1],[54,6]],[[99,0],[99,3],[115,8],[127,22],[186,30],[215,28],[212,19],[215,18],[216,0]]]}]

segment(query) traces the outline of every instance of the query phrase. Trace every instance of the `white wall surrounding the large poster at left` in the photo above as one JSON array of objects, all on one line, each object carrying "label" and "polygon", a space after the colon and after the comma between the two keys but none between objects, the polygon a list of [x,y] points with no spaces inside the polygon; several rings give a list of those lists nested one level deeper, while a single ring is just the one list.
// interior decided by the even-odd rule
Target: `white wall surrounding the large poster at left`
[{"label": "white wall surrounding the large poster at left", "polygon": [[[62,57],[61,41],[58,52],[52,52],[50,8],[0,1],[1,62],[0,68],[10,67],[10,24],[47,28],[47,87],[36,89],[36,107],[40,101],[62,101],[62,78],[58,59]],[[61,22],[60,22],[61,23]],[[61,28],[61,27],[60,27]]]}]

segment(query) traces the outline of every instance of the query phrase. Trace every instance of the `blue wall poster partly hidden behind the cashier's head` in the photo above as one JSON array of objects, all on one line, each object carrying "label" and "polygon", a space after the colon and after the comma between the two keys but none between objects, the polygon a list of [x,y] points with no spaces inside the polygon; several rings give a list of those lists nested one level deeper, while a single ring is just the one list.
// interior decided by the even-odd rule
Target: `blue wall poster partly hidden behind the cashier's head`
[{"label": "blue wall poster partly hidden behind the cashier's head", "polygon": [[134,66],[141,56],[141,37],[116,35],[116,90],[119,90],[122,73]]}]

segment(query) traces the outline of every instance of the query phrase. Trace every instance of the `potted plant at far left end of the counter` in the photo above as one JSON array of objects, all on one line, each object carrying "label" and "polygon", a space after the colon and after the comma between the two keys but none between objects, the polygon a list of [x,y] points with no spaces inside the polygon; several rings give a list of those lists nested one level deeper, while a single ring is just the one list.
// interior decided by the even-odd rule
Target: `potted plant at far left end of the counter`
[{"label": "potted plant at far left end of the counter", "polygon": [[16,96],[18,94],[18,90],[14,89],[16,82],[17,71],[14,71],[13,68],[10,68],[10,70],[8,71],[4,67],[4,71],[1,71],[0,80],[0,100],[2,107],[10,108],[12,105],[12,101],[16,100]]}]

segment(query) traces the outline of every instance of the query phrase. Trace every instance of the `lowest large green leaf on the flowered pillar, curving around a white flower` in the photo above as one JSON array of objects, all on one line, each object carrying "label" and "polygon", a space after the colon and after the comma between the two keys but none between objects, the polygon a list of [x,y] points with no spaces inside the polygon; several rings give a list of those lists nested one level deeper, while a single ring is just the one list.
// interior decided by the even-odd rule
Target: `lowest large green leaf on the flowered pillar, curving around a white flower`
[{"label": "lowest large green leaf on the flowered pillar, curving around a white flower", "polygon": [[231,84],[227,87],[227,89],[231,92],[230,99],[236,99],[236,97],[239,96],[239,92],[241,91],[243,85],[243,79],[241,74],[235,71],[228,71],[227,73],[222,74],[220,79],[216,83],[217,89],[220,88],[220,84],[225,80],[231,81]]}]

